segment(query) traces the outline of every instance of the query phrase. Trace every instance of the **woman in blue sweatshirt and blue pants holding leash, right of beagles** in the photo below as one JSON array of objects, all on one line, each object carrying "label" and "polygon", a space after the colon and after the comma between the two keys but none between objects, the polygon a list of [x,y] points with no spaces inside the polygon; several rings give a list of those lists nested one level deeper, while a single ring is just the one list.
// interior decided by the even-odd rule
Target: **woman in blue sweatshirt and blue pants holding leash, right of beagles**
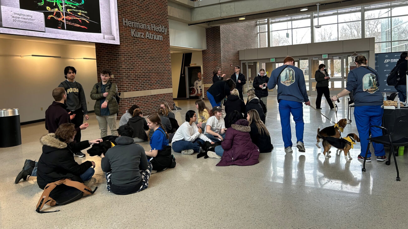
[{"label": "woman in blue sweatshirt and blue pants holding leash, right of beagles", "polygon": [[[369,132],[371,131],[371,137],[382,135],[380,128],[370,128],[370,126],[381,126],[382,115],[384,113],[384,108],[381,108],[383,97],[378,88],[378,73],[373,68],[366,66],[366,57],[359,55],[355,58],[354,62],[357,68],[348,73],[346,88],[331,99],[337,101],[340,97],[348,95],[353,91],[355,104],[354,118],[361,141],[361,152],[358,159],[364,160]],[[385,161],[387,158],[385,156],[384,145],[373,142],[373,146],[377,161]],[[370,151],[368,151],[366,161],[371,161]]]}]

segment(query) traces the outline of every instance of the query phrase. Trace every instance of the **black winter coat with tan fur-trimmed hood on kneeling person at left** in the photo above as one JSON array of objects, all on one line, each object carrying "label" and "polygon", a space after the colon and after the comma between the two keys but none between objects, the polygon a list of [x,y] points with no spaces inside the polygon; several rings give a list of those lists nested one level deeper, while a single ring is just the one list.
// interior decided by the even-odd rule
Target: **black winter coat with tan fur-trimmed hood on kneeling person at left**
[{"label": "black winter coat with tan fur-trimmed hood on kneeling person at left", "polygon": [[42,136],[40,143],[42,144],[42,154],[37,167],[37,183],[40,189],[44,189],[49,183],[66,178],[84,182],[80,175],[88,170],[92,163],[85,161],[79,165],[74,160],[73,152],[88,148],[88,141],[67,144],[51,133]]}]

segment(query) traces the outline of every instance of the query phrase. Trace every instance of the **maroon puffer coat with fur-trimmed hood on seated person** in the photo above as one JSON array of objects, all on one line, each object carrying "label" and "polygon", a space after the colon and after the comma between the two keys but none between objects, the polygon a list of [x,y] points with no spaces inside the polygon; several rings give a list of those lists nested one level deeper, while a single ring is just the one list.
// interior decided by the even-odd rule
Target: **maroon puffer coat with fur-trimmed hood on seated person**
[{"label": "maroon puffer coat with fur-trimmed hood on seated person", "polygon": [[221,143],[224,154],[217,166],[246,166],[259,163],[259,148],[252,143],[250,131],[251,127],[245,119],[239,119],[228,128]]}]

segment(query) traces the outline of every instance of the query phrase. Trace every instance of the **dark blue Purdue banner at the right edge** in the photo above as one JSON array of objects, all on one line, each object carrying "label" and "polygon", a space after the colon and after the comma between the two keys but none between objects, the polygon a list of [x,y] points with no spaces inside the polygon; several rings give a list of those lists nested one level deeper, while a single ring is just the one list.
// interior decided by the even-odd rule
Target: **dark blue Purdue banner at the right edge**
[{"label": "dark blue Purdue banner at the right edge", "polygon": [[392,68],[395,67],[401,52],[397,53],[376,53],[375,54],[375,70],[379,76],[379,89],[381,92],[397,92],[394,86],[388,86],[387,77]]}]

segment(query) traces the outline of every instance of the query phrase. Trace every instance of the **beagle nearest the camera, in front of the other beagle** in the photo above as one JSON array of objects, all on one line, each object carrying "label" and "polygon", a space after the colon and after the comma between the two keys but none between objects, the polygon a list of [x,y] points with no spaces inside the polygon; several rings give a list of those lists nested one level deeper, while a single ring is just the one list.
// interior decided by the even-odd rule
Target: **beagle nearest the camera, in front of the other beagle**
[{"label": "beagle nearest the camera, in front of the other beagle", "polygon": [[[339,149],[339,150],[341,150],[341,151],[344,151],[344,158],[346,159],[347,162],[350,162],[350,160],[353,159],[353,158],[351,158],[351,156],[350,156],[350,149],[353,149],[353,148],[354,148],[353,145],[354,145],[356,142],[360,142],[360,139],[359,139],[359,137],[357,136],[357,134],[347,134],[347,137],[341,138],[341,139],[334,138],[334,137],[323,137],[323,136],[320,136],[320,139],[322,139],[321,141],[323,142],[323,143],[322,143],[323,148],[324,148],[324,150],[323,150],[323,155],[324,155],[324,157],[325,157],[326,159],[328,159],[329,157],[331,157],[331,156],[329,155],[329,153],[330,153],[329,150],[330,150],[330,148],[331,148],[332,145],[333,145],[335,148],[337,148],[337,149]],[[323,141],[323,140],[324,140],[324,141]],[[327,153],[327,154],[326,154],[326,153]],[[348,158],[347,158],[347,155],[348,155]]]}]

